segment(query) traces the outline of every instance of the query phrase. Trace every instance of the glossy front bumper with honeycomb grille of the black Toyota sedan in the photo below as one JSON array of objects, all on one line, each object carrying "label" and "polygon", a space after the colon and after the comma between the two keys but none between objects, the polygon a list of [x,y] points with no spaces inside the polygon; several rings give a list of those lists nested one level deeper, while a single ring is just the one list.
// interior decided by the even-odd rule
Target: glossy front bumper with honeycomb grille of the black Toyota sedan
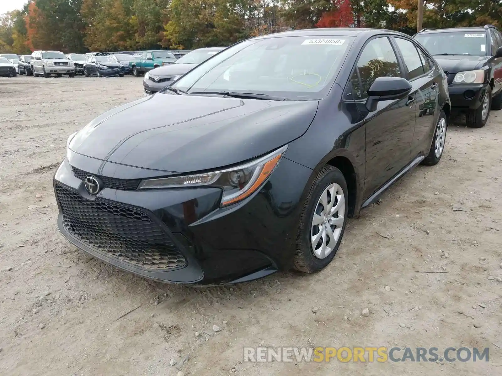
[{"label": "glossy front bumper with honeycomb grille of the black Toyota sedan", "polygon": [[[77,173],[79,178],[72,166],[100,171],[103,177],[94,176],[106,187],[95,197],[89,195],[81,179],[87,172]],[[283,158],[261,191],[221,209],[217,187],[124,190],[121,179],[159,176],[162,171],[70,152],[54,175],[58,228],[78,248],[145,278],[198,285],[244,282],[293,266],[299,203],[311,172]],[[113,182],[117,179],[122,185]],[[132,219],[125,221],[124,215]],[[169,267],[165,260],[170,260]]]}]

